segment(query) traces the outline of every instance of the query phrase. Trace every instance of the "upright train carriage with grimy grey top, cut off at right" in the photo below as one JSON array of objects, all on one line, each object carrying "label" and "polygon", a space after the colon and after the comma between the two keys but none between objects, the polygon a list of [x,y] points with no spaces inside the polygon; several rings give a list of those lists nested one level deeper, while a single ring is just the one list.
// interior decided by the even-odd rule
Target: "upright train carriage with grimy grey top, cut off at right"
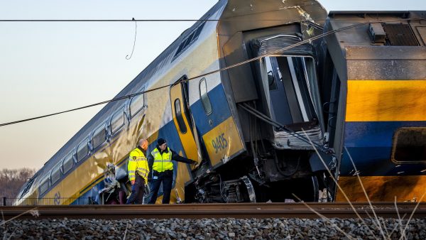
[{"label": "upright train carriage with grimy grey top, cut off at right", "polygon": [[[339,184],[351,201],[367,200],[357,174],[376,202],[420,200],[426,192],[425,16],[329,13],[328,31],[359,25],[326,38],[334,68],[329,124]],[[341,191],[336,198],[347,201]]]}]

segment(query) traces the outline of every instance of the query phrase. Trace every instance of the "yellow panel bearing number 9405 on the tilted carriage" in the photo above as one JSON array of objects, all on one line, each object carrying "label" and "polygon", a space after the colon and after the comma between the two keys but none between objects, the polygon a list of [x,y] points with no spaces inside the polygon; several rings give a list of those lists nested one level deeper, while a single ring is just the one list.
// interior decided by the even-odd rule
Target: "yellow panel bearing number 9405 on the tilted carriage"
[{"label": "yellow panel bearing number 9405 on the tilted carriage", "polygon": [[243,149],[243,143],[232,116],[204,134],[202,139],[212,166],[218,165],[222,160],[226,162],[232,155]]}]

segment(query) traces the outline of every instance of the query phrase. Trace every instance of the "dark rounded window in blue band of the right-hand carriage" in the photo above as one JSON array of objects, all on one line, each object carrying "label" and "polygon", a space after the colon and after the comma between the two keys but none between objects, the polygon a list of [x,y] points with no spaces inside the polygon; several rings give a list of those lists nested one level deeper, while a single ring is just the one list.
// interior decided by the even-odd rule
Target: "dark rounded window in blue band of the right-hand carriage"
[{"label": "dark rounded window in blue band of the right-hand carriage", "polygon": [[426,128],[405,127],[395,131],[392,160],[396,163],[426,162]]}]

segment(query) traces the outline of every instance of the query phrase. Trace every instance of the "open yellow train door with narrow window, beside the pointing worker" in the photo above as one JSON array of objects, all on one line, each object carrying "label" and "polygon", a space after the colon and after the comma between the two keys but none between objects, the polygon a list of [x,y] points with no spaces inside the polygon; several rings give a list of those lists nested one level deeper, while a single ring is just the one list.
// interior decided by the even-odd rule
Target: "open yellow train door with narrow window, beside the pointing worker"
[{"label": "open yellow train door with narrow window, beside the pointing worker", "polygon": [[[192,116],[187,104],[187,85],[186,83],[180,82],[185,79],[186,77],[182,77],[178,80],[178,83],[170,87],[170,103],[172,107],[173,122],[178,130],[179,138],[186,157],[198,160],[200,164],[201,153],[199,151],[200,148],[197,147],[197,131],[192,125]],[[178,175],[175,191],[178,191],[177,193],[180,198],[184,195],[183,190],[185,189],[185,182],[190,180],[191,170],[192,169],[190,169],[189,165],[185,163],[178,163]]]}]

